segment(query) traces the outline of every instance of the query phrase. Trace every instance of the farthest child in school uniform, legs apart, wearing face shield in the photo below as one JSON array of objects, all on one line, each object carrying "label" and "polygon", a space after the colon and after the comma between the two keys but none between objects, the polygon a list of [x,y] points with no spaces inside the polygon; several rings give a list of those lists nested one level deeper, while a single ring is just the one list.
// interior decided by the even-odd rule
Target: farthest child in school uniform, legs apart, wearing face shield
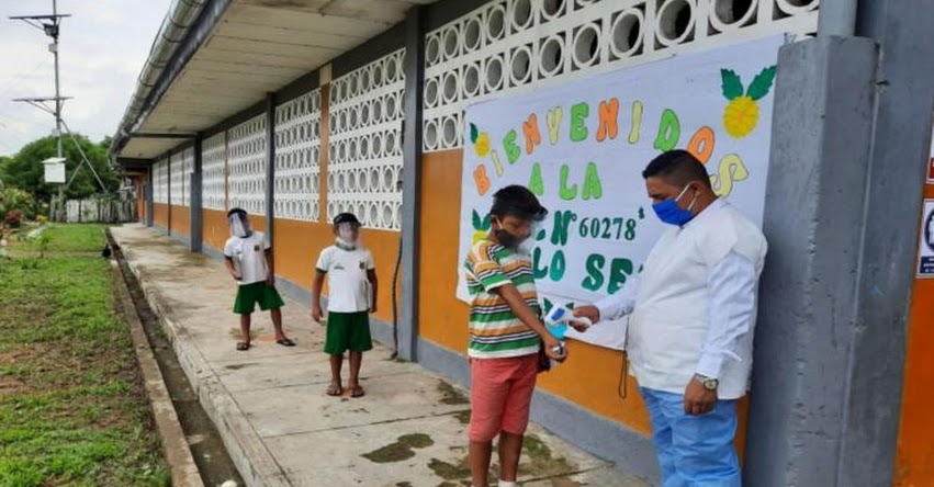
[{"label": "farthest child in school uniform, legs apart, wearing face shield", "polygon": [[295,342],[282,331],[282,297],[275,291],[275,274],[272,267],[272,246],[262,231],[250,228],[249,217],[243,208],[227,212],[230,238],[224,246],[224,265],[230,276],[237,281],[237,298],[234,313],[240,315],[243,340],[237,350],[250,349],[250,318],[256,305],[263,312],[269,310],[272,326],[275,328],[275,342],[283,347],[294,347]]}]

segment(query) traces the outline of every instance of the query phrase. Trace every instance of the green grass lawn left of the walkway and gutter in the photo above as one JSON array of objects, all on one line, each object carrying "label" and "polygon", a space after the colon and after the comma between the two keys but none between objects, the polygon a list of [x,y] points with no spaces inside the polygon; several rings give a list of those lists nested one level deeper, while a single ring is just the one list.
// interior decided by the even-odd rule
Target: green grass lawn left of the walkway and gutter
[{"label": "green grass lawn left of the walkway and gutter", "polygon": [[[0,486],[168,486],[100,225],[0,259]],[[89,252],[81,254],[79,252]]]}]

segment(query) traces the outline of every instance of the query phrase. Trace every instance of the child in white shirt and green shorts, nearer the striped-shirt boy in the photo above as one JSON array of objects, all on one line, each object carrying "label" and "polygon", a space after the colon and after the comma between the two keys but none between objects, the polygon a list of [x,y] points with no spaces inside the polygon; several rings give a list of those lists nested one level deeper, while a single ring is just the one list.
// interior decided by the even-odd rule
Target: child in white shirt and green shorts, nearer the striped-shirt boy
[{"label": "child in white shirt and green shorts, nearer the striped-shirt boy", "polygon": [[331,382],[328,396],[340,396],[344,352],[350,351],[351,397],[362,397],[360,365],[363,352],[373,349],[370,313],[376,313],[376,267],[373,254],[360,245],[360,220],[352,213],[334,218],[335,244],[324,249],[315,265],[312,283],[312,318],[322,322],[322,286],[328,278],[327,338],[324,351],[330,355]]}]

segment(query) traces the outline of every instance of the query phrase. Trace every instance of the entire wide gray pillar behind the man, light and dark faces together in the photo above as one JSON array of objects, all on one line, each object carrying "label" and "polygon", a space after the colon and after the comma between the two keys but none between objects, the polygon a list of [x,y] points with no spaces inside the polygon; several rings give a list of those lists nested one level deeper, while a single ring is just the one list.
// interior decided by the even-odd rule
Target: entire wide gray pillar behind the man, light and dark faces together
[{"label": "entire wide gray pillar behind the man, light and dark faces together", "polygon": [[934,3],[779,56],[745,479],[890,486],[934,110]]}]

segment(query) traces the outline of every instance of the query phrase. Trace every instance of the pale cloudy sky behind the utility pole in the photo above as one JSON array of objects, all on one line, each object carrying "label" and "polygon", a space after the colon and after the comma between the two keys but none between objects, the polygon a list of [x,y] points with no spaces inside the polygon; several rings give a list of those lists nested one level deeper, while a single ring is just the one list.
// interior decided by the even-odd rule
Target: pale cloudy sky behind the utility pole
[{"label": "pale cloudy sky behind the utility pole", "polygon": [[[100,140],[116,125],[136,88],[171,0],[58,0],[63,118],[75,133]],[[24,97],[54,97],[50,38],[11,15],[52,13],[52,0],[0,0],[0,156],[50,135],[55,118]]]}]

